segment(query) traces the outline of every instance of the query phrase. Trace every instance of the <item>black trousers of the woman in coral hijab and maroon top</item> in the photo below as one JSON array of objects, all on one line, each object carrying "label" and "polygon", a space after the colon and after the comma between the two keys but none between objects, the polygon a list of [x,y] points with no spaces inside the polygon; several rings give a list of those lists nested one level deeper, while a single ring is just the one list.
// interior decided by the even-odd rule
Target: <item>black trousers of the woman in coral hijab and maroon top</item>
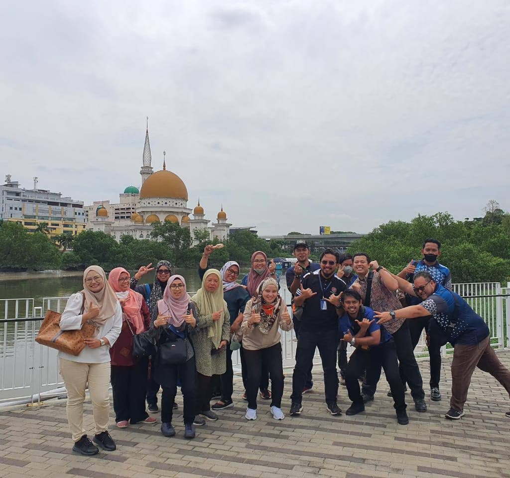
[{"label": "black trousers of the woman in coral hijab and maroon top", "polygon": [[145,411],[145,386],[147,384],[148,360],[140,360],[131,366],[112,365],[110,381],[113,390],[115,421],[143,421]]}]

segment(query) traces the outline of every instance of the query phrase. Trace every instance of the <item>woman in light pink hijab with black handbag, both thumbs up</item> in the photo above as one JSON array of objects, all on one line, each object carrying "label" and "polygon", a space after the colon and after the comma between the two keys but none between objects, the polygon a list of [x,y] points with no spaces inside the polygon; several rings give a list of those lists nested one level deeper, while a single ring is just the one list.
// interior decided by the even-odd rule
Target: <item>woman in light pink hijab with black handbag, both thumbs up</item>
[{"label": "woman in light pink hijab with black handbag, both thumbs up", "polygon": [[[168,279],[163,299],[158,301],[157,307],[152,312],[152,324],[159,331],[159,344],[192,337],[197,330],[196,306],[191,302],[186,291],[186,281],[183,276],[174,275]],[[172,409],[177,392],[177,377],[179,377],[184,397],[184,437],[195,438],[193,426],[196,404],[195,373],[195,356],[191,343],[184,363],[161,364],[158,356],[156,357],[154,380],[163,387],[161,433],[166,437],[175,435],[175,429],[172,426]]]}]

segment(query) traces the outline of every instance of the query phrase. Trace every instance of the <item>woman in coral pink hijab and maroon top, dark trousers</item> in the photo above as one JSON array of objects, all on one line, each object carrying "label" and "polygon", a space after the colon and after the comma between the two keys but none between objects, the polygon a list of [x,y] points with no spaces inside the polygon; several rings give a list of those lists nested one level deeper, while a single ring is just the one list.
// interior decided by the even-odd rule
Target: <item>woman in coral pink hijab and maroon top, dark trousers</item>
[{"label": "woman in coral pink hijab and maroon top, dark trousers", "polygon": [[143,297],[130,289],[130,273],[122,267],[108,274],[122,308],[122,329],[110,349],[113,409],[118,428],[138,422],[155,424],[145,411],[148,360],[133,361],[133,337],[150,327],[150,315]]}]

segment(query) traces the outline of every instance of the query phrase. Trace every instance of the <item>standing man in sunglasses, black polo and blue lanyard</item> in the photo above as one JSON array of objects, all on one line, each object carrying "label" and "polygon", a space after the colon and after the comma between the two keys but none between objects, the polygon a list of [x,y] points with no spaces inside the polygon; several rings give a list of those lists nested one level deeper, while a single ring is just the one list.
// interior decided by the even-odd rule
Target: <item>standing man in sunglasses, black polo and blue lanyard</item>
[{"label": "standing man in sunglasses, black polo and blue lanyard", "polygon": [[297,307],[302,306],[303,312],[292,375],[291,416],[299,415],[303,409],[302,391],[316,348],[319,349],[324,370],[327,409],[331,415],[342,413],[337,405],[337,346],[340,293],[346,286],[342,279],[335,276],[339,259],[338,252],[326,249],[320,256],[320,269],[305,274],[296,291],[294,303]]}]

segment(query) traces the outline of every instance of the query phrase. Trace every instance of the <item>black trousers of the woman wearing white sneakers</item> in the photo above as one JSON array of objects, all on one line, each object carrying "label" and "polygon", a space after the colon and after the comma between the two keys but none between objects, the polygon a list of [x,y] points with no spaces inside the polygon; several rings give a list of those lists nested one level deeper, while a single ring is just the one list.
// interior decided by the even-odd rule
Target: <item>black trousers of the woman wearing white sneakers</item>
[{"label": "black trousers of the woman wearing white sneakers", "polygon": [[274,344],[267,349],[244,350],[244,359],[248,371],[248,407],[257,410],[257,394],[262,377],[262,370],[269,370],[271,378],[271,407],[282,407],[282,396],[284,394],[284,369],[282,362],[282,344]]}]

